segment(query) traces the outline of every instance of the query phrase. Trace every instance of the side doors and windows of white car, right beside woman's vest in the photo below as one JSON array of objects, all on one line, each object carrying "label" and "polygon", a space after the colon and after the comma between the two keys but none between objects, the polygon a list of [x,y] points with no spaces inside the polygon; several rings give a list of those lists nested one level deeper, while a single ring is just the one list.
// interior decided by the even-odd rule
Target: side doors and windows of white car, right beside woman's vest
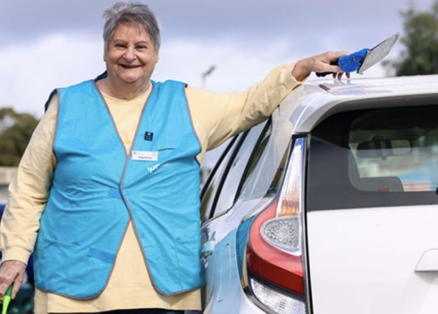
[{"label": "side doors and windows of white car, right beside woman's vest", "polygon": [[[230,142],[202,190],[202,260],[206,284],[202,290],[204,313],[227,313],[236,308],[240,286],[236,267],[234,230],[238,220],[230,213],[241,177],[266,124],[237,135]],[[225,274],[225,276],[224,276]],[[224,312],[225,311],[225,312]]]}]

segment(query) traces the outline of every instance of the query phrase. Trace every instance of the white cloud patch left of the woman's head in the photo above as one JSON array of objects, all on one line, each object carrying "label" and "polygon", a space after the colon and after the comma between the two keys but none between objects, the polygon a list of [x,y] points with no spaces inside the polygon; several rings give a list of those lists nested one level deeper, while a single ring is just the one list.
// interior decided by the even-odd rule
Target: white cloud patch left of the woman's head
[{"label": "white cloud patch left of the woman's head", "polygon": [[52,34],[0,50],[0,106],[40,117],[54,88],[104,70],[102,43],[80,35]]}]

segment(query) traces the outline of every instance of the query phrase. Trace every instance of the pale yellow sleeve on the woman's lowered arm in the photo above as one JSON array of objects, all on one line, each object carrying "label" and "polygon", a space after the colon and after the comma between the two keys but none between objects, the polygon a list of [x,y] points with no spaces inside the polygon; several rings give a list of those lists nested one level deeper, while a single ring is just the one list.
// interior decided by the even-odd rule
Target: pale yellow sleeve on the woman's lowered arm
[{"label": "pale yellow sleeve on the woman's lowered arm", "polygon": [[9,185],[8,204],[0,224],[2,262],[27,263],[33,251],[56,164],[53,140],[57,111],[57,97],[53,97]]}]

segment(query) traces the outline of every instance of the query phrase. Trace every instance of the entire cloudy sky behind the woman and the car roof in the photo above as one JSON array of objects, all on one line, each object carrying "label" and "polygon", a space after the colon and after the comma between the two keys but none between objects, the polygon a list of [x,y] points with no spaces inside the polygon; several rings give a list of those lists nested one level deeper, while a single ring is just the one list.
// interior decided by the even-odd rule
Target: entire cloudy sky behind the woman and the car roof
[{"label": "entire cloudy sky behind the woman and the car roof", "polygon": [[[433,1],[142,1],[161,24],[152,79],[218,92],[245,90],[282,63],[372,48],[394,33],[403,35],[400,13],[430,10]],[[0,107],[40,118],[51,90],[104,72],[102,12],[114,2],[0,0]],[[401,49],[399,40],[387,58]],[[385,75],[380,64],[364,74]]]}]

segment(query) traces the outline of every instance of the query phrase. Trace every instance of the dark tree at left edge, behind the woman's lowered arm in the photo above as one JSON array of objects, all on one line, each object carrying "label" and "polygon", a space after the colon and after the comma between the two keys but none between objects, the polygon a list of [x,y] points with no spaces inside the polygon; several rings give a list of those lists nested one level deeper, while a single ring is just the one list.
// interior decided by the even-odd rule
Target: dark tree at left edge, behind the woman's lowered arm
[{"label": "dark tree at left edge, behind the woman's lowered arm", "polygon": [[38,119],[12,108],[0,108],[0,165],[17,166]]}]

